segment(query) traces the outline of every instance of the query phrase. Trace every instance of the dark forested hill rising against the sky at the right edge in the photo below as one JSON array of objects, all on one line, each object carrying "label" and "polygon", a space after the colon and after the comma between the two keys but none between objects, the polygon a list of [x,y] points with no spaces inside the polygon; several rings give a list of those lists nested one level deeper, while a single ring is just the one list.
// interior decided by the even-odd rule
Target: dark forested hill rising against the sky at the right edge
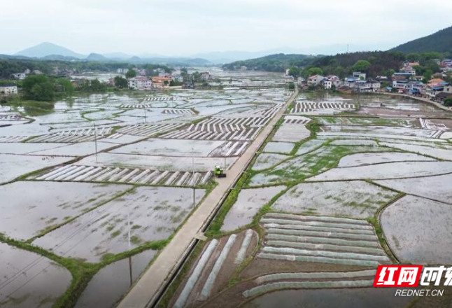
[{"label": "dark forested hill rising against the sky at the right edge", "polygon": [[391,49],[390,51],[409,52],[451,52],[452,27],[442,29],[434,34],[417,38]]}]

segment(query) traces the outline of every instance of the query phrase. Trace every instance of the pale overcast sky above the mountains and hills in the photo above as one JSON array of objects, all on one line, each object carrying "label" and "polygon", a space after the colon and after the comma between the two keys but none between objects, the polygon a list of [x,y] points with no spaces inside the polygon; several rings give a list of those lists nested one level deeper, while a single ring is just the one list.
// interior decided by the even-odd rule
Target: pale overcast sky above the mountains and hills
[{"label": "pale overcast sky above the mountains and hills", "polygon": [[452,25],[452,1],[444,0],[1,2],[0,53],[6,54],[43,41],[84,54],[192,55],[347,43],[351,51],[384,50]]}]

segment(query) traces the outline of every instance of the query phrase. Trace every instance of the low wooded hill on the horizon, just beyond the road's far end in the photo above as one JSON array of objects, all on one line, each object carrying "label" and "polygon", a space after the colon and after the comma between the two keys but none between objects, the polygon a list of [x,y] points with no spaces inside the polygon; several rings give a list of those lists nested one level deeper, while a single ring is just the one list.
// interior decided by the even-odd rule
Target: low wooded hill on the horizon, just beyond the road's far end
[{"label": "low wooded hill on the horizon, just beyond the road's far end", "polygon": [[254,71],[285,71],[290,66],[306,66],[313,59],[316,59],[316,57],[311,55],[285,55],[278,53],[256,59],[232,62],[223,65],[223,68],[240,69],[241,66],[246,66],[248,70]]}]

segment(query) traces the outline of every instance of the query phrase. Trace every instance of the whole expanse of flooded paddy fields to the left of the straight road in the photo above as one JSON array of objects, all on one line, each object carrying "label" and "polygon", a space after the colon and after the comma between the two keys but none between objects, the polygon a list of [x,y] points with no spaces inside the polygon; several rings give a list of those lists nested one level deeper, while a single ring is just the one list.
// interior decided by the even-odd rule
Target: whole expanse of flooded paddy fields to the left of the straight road
[{"label": "whole expanse of flooded paddy fields to the left of the straight road", "polygon": [[233,165],[292,93],[237,86],[279,74],[233,79],[224,90],[72,97],[45,113],[2,106],[0,306],[51,307],[74,278],[64,257],[99,269],[71,304],[113,307],[130,287],[127,255],[134,282],[209,192],[213,166]]}]

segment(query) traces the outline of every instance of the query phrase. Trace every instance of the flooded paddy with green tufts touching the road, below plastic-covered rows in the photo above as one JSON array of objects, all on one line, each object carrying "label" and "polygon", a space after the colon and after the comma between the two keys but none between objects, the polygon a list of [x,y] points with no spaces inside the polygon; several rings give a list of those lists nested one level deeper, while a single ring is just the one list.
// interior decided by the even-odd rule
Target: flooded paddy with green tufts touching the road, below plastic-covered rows
[{"label": "flooded paddy with green tufts touching the road, below plastic-covered rows", "polygon": [[57,255],[99,262],[106,255],[167,239],[204,193],[197,190],[193,200],[190,188],[135,188],[35,239],[33,244]]}]

